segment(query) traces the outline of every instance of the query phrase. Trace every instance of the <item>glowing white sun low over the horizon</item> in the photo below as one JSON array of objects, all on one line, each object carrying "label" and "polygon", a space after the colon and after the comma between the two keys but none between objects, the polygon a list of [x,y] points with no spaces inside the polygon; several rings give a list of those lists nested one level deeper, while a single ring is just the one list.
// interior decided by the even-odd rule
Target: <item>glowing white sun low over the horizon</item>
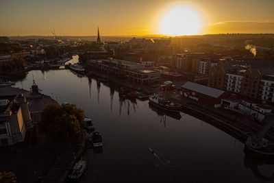
[{"label": "glowing white sun low over the horizon", "polygon": [[175,5],[167,10],[160,19],[160,34],[169,36],[199,34],[202,27],[201,18],[188,5]]}]

